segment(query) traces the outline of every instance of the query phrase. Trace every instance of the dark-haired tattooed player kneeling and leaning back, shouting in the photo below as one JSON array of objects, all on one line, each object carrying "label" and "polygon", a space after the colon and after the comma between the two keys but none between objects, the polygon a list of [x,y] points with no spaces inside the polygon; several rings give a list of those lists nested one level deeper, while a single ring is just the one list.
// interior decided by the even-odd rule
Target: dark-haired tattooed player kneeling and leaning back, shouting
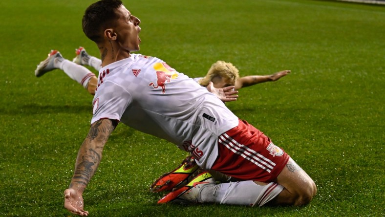
[{"label": "dark-haired tattooed player kneeling and leaning back, shouting", "polygon": [[100,0],[86,9],[83,31],[97,44],[102,69],[90,130],[64,191],[64,207],[88,215],[82,195],[118,123],[166,139],[190,152],[199,167],[239,180],[216,184],[210,173],[203,172],[158,203],[309,203],[317,191],[314,181],[269,137],[164,61],[131,53],[139,50],[139,24],[120,0]]}]

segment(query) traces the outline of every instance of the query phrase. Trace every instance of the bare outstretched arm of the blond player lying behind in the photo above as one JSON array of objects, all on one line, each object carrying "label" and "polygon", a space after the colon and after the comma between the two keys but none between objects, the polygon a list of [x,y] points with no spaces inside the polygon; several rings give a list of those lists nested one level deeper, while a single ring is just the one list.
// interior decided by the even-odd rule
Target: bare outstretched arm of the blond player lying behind
[{"label": "bare outstretched arm of the blond player lying behind", "polygon": [[237,90],[242,87],[249,87],[263,82],[277,81],[278,79],[283,76],[286,76],[290,72],[290,70],[283,70],[271,75],[250,75],[241,77],[235,81],[235,89]]}]

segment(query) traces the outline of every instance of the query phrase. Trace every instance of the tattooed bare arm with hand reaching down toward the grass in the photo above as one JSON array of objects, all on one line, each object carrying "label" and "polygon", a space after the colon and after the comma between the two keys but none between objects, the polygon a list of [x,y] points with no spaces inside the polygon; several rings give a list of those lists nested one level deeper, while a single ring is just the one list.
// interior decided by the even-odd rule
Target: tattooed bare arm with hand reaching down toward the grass
[{"label": "tattooed bare arm with hand reaching down toward the grass", "polygon": [[69,188],[64,191],[64,208],[69,212],[88,216],[88,212],[84,210],[82,194],[99,166],[104,145],[113,130],[114,125],[109,119],[101,119],[91,125],[79,149]]}]

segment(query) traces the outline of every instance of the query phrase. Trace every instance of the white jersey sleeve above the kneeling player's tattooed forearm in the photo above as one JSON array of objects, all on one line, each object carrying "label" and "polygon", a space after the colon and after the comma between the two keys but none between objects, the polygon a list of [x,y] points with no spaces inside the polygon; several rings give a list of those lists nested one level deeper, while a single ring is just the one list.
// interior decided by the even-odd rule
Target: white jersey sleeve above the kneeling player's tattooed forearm
[{"label": "white jersey sleeve above the kneeling player's tattooed forearm", "polygon": [[124,111],[132,102],[131,95],[126,89],[113,82],[105,82],[101,88],[103,91],[98,89],[93,99],[91,124],[100,119],[120,121]]}]

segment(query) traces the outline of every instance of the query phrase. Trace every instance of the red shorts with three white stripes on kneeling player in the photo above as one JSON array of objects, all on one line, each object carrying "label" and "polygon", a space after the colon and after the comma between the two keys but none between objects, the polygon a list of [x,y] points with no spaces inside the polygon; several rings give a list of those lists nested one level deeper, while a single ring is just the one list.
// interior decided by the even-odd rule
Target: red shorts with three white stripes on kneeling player
[{"label": "red shorts with three white stripes on kneeling player", "polygon": [[246,121],[223,133],[212,170],[241,180],[272,182],[290,156]]}]

